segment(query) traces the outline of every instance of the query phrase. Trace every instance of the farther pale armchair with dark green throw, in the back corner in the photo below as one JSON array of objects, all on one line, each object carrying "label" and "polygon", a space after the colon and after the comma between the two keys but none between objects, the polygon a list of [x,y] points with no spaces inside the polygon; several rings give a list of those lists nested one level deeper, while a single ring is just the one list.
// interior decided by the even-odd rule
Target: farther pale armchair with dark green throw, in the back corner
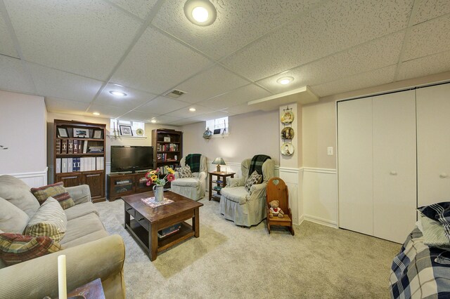
[{"label": "farther pale armchair with dark green throw, in the back corner", "polygon": [[[188,155],[189,156],[189,155]],[[187,157],[187,156],[186,156]],[[180,160],[180,166],[186,167],[186,157]],[[192,165],[192,164],[191,164]],[[192,172],[193,177],[181,178],[178,171],[175,172],[175,180],[172,181],[170,191],[183,195],[195,201],[205,197],[207,164],[206,157],[200,155],[200,168],[198,171]]]}]

